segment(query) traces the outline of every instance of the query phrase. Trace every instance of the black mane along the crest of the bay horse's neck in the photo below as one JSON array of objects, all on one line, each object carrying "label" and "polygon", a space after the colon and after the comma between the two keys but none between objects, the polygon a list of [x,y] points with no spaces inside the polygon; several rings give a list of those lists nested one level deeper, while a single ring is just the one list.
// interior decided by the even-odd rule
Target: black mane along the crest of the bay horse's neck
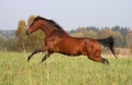
[{"label": "black mane along the crest of the bay horse's neck", "polygon": [[51,23],[52,25],[54,25],[56,28],[63,31],[63,28],[62,28],[55,21],[53,21],[53,20],[47,20],[47,19],[42,17],[42,16],[36,16],[36,17],[34,19],[34,21],[37,21],[37,20],[44,20],[44,21]]}]

